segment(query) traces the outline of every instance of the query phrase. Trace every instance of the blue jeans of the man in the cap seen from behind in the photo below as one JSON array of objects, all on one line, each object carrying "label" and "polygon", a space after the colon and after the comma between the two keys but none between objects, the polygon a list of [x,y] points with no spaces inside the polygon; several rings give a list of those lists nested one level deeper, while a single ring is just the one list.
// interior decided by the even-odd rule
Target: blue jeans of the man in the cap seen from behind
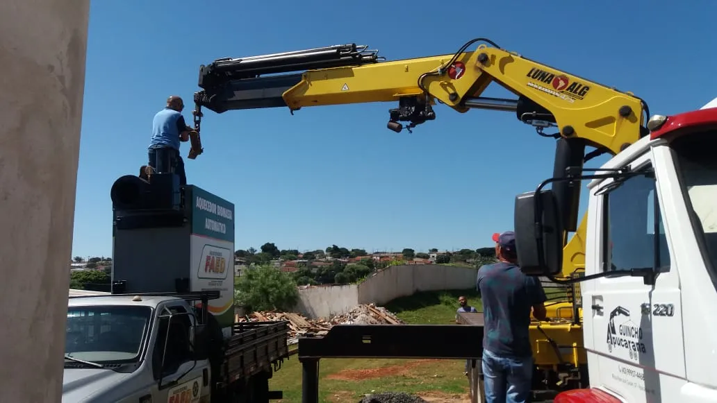
[{"label": "blue jeans of the man in the cap seen from behind", "polygon": [[486,403],[528,402],[533,383],[533,356],[503,357],[483,350]]}]

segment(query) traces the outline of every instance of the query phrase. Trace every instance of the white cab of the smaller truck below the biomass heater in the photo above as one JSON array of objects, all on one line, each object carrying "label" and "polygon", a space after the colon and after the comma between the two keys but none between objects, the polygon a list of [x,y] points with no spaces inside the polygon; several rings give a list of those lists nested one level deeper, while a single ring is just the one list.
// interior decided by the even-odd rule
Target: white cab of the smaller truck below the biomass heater
[{"label": "white cab of the smaller truck below the biomass heater", "polygon": [[204,401],[209,361],[191,347],[193,311],[173,296],[70,298],[62,402]]}]

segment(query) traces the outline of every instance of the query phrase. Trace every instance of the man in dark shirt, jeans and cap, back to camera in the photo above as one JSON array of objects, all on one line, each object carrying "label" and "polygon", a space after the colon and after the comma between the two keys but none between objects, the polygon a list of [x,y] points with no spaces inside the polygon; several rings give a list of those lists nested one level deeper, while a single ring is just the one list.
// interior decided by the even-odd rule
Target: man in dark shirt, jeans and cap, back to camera
[{"label": "man in dark shirt, jeans and cap, back to camera", "polygon": [[528,336],[531,309],[546,319],[545,291],[537,277],[518,267],[516,234],[493,234],[498,263],[478,269],[483,300],[483,374],[485,402],[527,402],[533,378],[533,351]]}]

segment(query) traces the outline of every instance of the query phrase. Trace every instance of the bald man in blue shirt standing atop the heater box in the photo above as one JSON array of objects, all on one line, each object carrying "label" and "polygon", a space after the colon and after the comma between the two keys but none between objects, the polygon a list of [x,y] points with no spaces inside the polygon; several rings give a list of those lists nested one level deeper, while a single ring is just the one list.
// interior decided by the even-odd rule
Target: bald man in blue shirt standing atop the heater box
[{"label": "bald man in blue shirt standing atop the heater box", "polygon": [[149,142],[149,166],[156,173],[168,173],[174,169],[179,175],[179,184],[186,185],[184,160],[179,155],[180,142],[189,140],[192,128],[184,122],[181,111],[184,101],[172,95],[167,98],[167,106],[154,115],[152,121],[152,139]]}]

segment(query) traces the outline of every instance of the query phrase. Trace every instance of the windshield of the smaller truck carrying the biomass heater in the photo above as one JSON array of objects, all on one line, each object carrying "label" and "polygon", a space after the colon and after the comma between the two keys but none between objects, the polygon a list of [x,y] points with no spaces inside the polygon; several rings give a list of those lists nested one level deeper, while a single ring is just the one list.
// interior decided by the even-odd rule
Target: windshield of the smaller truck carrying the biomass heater
[{"label": "windshield of the smaller truck carrying the biomass heater", "polygon": [[136,361],[150,318],[148,306],[70,307],[65,354],[98,364]]}]

